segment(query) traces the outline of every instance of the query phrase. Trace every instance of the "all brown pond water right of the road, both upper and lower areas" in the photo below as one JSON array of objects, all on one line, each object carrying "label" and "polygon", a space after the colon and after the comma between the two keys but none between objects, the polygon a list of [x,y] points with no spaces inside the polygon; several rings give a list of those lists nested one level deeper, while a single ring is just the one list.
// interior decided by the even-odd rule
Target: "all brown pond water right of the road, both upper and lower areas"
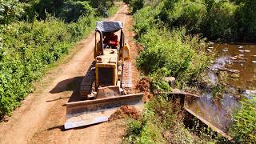
[{"label": "all brown pond water right of the road, both upper and lower areas", "polygon": [[[225,70],[229,74],[230,89],[255,90],[256,45],[214,44],[207,50],[216,54],[208,74],[213,85],[218,82],[216,72]],[[213,102],[210,92],[203,93],[201,98],[192,98],[187,104],[195,114],[224,132],[232,125],[234,111],[241,105],[232,94],[224,94],[222,100]]]}]

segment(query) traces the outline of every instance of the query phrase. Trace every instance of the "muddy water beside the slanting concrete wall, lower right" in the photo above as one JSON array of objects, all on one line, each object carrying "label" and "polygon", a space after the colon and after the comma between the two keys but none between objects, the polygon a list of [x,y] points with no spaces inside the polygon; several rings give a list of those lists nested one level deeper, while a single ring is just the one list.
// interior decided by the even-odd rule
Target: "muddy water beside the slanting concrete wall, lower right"
[{"label": "muddy water beside the slanting concrete wall, lower right", "polygon": [[201,98],[192,98],[186,102],[188,109],[223,132],[228,131],[233,122],[234,111],[240,107],[237,99],[230,94],[224,94],[220,102],[213,102],[210,93],[204,93]]}]

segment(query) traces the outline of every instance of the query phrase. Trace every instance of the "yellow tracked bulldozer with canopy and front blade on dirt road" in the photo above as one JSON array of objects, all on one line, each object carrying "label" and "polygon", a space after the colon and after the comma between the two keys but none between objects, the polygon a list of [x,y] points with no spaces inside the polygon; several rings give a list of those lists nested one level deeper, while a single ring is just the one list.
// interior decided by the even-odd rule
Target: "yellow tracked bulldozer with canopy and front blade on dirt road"
[{"label": "yellow tracked bulldozer with canopy and front blade on dirt road", "polygon": [[[130,46],[122,28],[118,21],[96,23],[94,62],[80,85],[86,100],[66,103],[65,129],[106,122],[119,106],[142,106],[143,94],[130,94]],[[118,46],[107,46],[107,34],[119,35]]]}]

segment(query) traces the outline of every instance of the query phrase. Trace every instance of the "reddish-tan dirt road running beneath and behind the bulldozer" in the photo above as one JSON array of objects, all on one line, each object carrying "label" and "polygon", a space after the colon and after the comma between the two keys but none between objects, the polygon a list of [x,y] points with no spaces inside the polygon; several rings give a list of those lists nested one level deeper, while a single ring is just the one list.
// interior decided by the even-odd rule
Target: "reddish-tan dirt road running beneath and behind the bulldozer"
[{"label": "reddish-tan dirt road running beneath and behind the bulldozer", "polygon": [[[128,32],[131,16],[127,14],[127,6],[122,6],[110,19],[125,22],[128,38],[133,36]],[[79,42],[58,67],[35,84],[34,93],[7,122],[0,123],[0,143],[120,143],[126,129],[123,120],[75,130],[63,129],[66,120],[63,105],[70,96],[78,98],[79,83],[93,62],[93,50],[94,33]]]}]

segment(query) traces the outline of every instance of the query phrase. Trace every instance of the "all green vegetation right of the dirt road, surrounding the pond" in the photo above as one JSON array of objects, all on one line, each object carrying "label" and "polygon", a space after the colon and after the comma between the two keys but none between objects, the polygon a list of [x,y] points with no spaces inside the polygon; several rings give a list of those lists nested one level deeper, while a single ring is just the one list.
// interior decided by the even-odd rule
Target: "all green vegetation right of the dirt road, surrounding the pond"
[{"label": "all green vegetation right of the dirt road, surrounding the pond", "polygon": [[[242,102],[230,128],[232,141],[202,128],[200,122],[190,119],[186,126],[186,112],[170,94],[165,77],[174,77],[175,87],[197,89],[207,79],[206,70],[213,60],[205,48],[208,41],[254,42],[256,38],[256,11],[254,1],[215,0],[133,0],[129,4],[134,14],[134,32],[143,50],[136,60],[142,76],[150,79],[154,94],[146,103],[142,118],[129,120],[126,142],[130,143],[205,143],[256,142],[255,100]],[[246,16],[245,16],[246,15]],[[247,15],[250,15],[250,17]],[[212,86],[215,99],[222,98],[225,74],[221,82]],[[243,100],[242,100],[243,101]],[[200,124],[200,126],[198,126]],[[245,126],[242,126],[245,125]],[[239,130],[242,131],[239,133]]]}]

